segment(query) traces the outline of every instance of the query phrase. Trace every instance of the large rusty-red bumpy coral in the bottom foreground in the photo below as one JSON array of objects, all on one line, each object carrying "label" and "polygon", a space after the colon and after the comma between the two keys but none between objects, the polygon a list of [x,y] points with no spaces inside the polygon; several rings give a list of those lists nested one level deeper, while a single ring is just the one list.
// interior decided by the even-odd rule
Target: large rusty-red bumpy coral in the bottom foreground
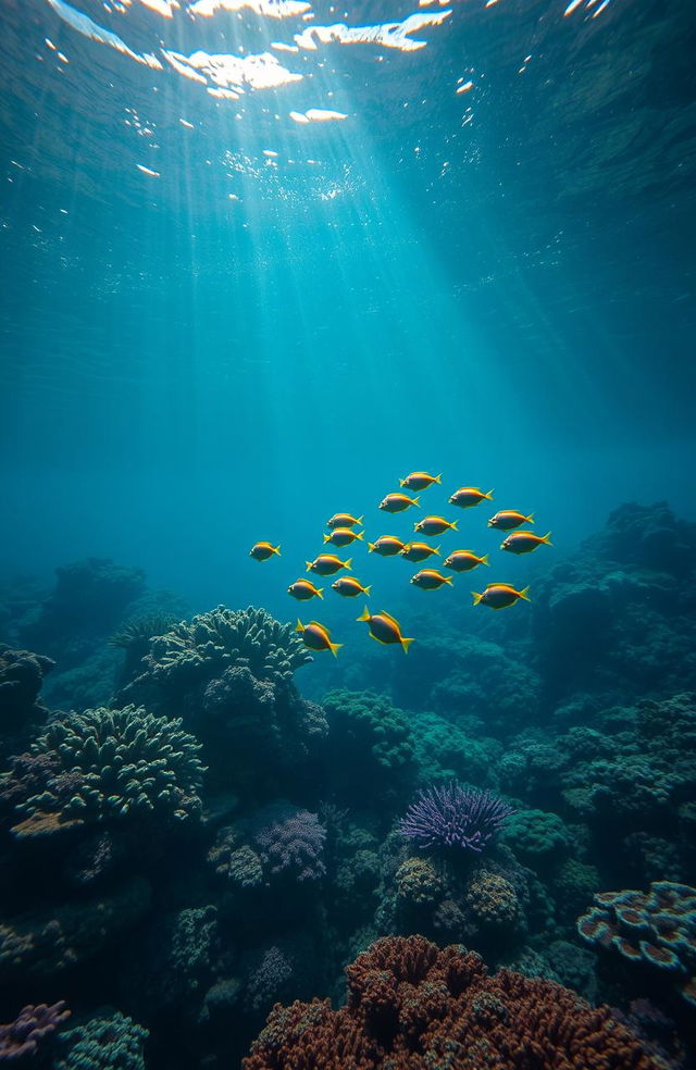
[{"label": "large rusty-red bumpy coral in the bottom foreground", "polygon": [[423,936],[348,967],[348,1004],[276,1005],[244,1070],[658,1070],[608,1007]]}]

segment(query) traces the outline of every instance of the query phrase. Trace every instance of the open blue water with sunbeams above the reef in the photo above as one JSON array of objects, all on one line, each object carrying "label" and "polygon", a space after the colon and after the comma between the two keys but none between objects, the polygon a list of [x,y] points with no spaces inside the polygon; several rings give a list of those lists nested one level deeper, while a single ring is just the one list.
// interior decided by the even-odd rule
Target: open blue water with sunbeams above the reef
[{"label": "open blue water with sunbeams above the reef", "polygon": [[[79,11],[138,54],[304,26],[157,8]],[[326,517],[383,526],[413,468],[560,547],[622,500],[694,515],[693,7],[563,9],[467,0],[422,49],[276,52],[302,82],[221,100],[65,5],[4,5],[8,571],[111,556],[197,608],[286,614]],[[288,117],[311,107],[348,117]]]}]

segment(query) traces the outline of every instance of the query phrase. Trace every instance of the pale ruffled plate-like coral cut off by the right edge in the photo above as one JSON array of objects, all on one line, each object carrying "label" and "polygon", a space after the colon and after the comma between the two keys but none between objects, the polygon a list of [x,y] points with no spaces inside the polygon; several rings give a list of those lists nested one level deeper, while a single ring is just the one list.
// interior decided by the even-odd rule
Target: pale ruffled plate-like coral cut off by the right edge
[{"label": "pale ruffled plate-like coral cut off by the right edge", "polygon": [[696,888],[654,881],[649,892],[598,892],[594,898],[577,920],[582,938],[664,971],[696,1006]]}]

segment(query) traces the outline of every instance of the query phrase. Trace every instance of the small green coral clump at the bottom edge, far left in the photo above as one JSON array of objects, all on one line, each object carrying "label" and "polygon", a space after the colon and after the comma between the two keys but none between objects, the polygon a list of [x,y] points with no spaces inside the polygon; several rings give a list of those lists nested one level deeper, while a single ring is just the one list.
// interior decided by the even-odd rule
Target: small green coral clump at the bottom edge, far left
[{"label": "small green coral clump at the bottom edge, far left", "polygon": [[145,1070],[142,1046],[149,1032],[120,1011],[102,1011],[60,1037],[54,1070]]}]

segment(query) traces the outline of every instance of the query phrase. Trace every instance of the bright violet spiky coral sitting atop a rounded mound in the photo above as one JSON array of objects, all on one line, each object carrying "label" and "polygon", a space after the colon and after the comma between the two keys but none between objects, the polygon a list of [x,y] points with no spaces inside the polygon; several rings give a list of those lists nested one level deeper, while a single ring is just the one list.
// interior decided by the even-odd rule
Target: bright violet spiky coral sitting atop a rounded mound
[{"label": "bright violet spiky coral sitting atop a rounded mound", "polygon": [[398,831],[419,847],[462,847],[481,851],[506,818],[514,813],[501,798],[452,782],[423,788]]}]

